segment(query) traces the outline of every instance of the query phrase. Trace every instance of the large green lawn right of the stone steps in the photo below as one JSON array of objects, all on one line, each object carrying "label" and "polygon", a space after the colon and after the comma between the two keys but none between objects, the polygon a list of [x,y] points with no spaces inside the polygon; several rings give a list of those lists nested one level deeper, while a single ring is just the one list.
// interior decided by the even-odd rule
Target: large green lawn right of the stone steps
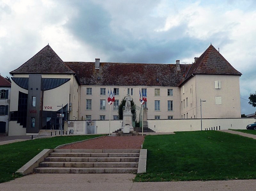
[{"label": "large green lawn right of the stone steps", "polygon": [[220,131],[147,135],[147,172],[135,181],[256,178],[256,140]]}]

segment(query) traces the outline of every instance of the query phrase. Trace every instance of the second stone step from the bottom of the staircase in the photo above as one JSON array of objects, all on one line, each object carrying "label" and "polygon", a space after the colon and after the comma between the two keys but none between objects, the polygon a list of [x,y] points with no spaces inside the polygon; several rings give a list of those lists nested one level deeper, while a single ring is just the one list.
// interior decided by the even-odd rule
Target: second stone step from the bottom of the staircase
[{"label": "second stone step from the bottom of the staircase", "polygon": [[138,167],[138,162],[41,162],[39,167],[135,168]]}]

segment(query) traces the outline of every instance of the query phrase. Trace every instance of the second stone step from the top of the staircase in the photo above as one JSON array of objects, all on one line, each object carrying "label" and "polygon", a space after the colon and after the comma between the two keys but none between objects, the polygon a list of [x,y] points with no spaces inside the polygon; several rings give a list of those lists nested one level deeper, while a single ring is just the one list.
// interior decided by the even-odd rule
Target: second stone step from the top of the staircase
[{"label": "second stone step from the top of the staircase", "polygon": [[140,153],[50,153],[50,157],[139,157]]}]

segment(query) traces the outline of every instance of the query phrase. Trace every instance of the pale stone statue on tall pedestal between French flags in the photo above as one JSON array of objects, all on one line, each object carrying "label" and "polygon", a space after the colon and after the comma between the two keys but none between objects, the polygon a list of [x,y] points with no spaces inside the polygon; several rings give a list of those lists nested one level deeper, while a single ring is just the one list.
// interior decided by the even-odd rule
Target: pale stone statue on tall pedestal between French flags
[{"label": "pale stone statue on tall pedestal between French flags", "polygon": [[123,111],[123,126],[122,131],[123,133],[130,133],[133,132],[133,126],[132,126],[132,118],[133,114],[131,112],[131,101],[132,98],[129,94],[124,98],[125,99],[125,108]]}]

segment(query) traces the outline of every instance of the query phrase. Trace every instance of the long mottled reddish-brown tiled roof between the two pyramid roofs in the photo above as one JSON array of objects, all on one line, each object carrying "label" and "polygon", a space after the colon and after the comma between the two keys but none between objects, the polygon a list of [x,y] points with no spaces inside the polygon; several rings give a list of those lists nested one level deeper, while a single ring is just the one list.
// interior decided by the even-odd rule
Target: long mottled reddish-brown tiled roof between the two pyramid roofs
[{"label": "long mottled reddish-brown tiled roof between the two pyramid roofs", "polygon": [[[189,65],[181,64],[177,71],[175,64],[65,62],[72,69],[81,85],[99,86],[172,86],[182,82]],[[100,77],[100,80],[97,78]],[[159,82],[156,81],[159,79]]]}]

